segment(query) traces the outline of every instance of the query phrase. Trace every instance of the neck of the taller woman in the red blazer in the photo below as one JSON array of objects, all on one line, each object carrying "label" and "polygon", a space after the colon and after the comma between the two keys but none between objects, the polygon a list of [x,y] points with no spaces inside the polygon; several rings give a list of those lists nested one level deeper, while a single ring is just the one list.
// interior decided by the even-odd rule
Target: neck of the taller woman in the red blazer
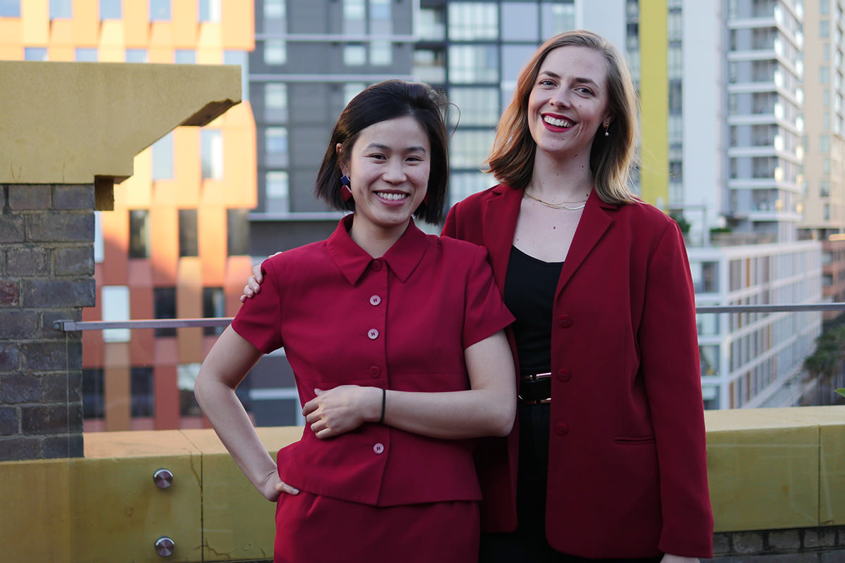
[{"label": "neck of the taller woman in the red blazer", "polygon": [[553,160],[538,150],[534,156],[532,180],[526,190],[546,201],[583,201],[592,192],[593,181],[589,154]]}]

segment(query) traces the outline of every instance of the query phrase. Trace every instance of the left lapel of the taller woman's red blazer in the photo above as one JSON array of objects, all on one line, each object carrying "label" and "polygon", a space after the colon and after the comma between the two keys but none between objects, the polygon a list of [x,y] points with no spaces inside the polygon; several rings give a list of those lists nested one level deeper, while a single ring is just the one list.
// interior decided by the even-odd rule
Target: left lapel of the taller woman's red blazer
[{"label": "left lapel of the taller woman's red blazer", "polygon": [[521,201],[522,190],[499,184],[493,188],[493,198],[488,200],[484,208],[482,221],[484,246],[489,252],[496,285],[502,292],[504,292],[504,279],[508,274],[510,246],[514,242],[516,218],[520,214]]}]

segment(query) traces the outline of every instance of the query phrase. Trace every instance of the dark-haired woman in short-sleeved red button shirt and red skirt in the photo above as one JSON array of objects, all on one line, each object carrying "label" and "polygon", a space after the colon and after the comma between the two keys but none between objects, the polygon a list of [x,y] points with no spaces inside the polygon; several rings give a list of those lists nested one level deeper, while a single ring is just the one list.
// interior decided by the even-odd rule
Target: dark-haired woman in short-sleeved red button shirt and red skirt
[{"label": "dark-haired woman in short-sleeved red button shirt and red skirt", "polygon": [[[277,501],[275,563],[476,560],[478,436],[506,436],[515,371],[483,248],[437,222],[448,163],[444,101],[391,80],[341,113],[316,192],[341,219],[327,240],[265,260],[199,371],[204,414],[243,473]],[[284,347],[307,425],[268,455],[235,388]]]}]

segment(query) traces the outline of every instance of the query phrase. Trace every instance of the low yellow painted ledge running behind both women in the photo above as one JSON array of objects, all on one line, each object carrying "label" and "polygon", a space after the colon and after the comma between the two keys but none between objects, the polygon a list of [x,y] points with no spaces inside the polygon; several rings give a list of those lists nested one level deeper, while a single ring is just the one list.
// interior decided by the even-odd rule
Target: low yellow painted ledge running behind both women
[{"label": "low yellow painted ledge running behind both women", "polygon": [[[717,532],[845,524],[845,407],[708,411],[706,425]],[[270,452],[301,435],[259,429]],[[161,536],[168,561],[273,553],[274,505],[211,430],[86,434],[85,458],[0,463],[0,511],[8,560],[157,562]]]}]

